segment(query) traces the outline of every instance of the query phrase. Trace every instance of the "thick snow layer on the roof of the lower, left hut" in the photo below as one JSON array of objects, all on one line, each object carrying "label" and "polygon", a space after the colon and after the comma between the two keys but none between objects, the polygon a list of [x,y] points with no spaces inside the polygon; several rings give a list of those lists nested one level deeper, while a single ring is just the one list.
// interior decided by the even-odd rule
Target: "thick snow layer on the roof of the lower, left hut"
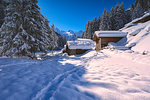
[{"label": "thick snow layer on the roof of the lower, left hut", "polygon": [[67,41],[69,49],[94,49],[95,42],[90,39],[79,38],[75,41]]}]

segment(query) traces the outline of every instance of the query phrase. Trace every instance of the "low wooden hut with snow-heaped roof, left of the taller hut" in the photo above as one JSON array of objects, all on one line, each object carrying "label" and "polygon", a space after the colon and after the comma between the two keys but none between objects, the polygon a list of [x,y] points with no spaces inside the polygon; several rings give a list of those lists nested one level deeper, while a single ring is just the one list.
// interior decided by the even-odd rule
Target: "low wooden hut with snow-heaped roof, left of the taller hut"
[{"label": "low wooden hut with snow-heaped roof, left of the taller hut", "polygon": [[90,39],[78,38],[75,41],[67,41],[63,53],[68,55],[83,54],[88,50],[95,49],[95,42]]}]

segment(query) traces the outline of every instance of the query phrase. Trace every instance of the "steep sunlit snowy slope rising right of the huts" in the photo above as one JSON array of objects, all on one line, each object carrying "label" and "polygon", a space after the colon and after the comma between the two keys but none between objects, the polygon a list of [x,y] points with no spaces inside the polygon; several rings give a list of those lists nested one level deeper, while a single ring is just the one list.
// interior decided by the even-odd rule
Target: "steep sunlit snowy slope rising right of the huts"
[{"label": "steep sunlit snowy slope rising right of the huts", "polygon": [[[132,47],[133,51],[143,53],[145,51],[150,52],[150,20],[144,23],[133,24],[135,21],[141,20],[146,14],[141,18],[135,19],[134,21],[125,25],[123,32],[128,32],[126,39],[122,39],[118,44],[124,44],[125,46]],[[149,16],[150,17],[150,16]],[[130,26],[132,25],[132,26]],[[127,28],[130,26],[129,28]]]}]

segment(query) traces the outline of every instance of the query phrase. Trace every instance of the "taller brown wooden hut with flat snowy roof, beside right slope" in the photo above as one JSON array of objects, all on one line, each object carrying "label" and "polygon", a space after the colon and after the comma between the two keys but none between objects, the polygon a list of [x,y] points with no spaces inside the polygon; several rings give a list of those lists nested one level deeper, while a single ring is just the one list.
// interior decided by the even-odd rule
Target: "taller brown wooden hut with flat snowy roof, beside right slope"
[{"label": "taller brown wooden hut with flat snowy roof, beside right slope", "polygon": [[126,35],[127,33],[121,31],[95,31],[93,39],[96,41],[96,50],[101,50],[109,42],[118,42]]}]

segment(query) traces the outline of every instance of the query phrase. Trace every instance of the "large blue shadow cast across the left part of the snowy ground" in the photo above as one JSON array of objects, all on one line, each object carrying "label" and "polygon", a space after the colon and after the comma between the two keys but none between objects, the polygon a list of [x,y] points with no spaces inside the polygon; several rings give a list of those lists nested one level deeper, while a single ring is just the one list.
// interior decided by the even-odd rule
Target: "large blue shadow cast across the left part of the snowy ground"
[{"label": "large blue shadow cast across the left part of the snowy ground", "polygon": [[[102,58],[105,58],[104,55]],[[0,58],[0,98],[2,100],[101,100],[101,97],[84,92],[77,86],[116,89],[115,84],[94,83],[86,81],[83,75],[85,66],[75,66],[60,61],[81,60],[81,55],[75,57],[55,56],[47,60],[26,60]]]}]

